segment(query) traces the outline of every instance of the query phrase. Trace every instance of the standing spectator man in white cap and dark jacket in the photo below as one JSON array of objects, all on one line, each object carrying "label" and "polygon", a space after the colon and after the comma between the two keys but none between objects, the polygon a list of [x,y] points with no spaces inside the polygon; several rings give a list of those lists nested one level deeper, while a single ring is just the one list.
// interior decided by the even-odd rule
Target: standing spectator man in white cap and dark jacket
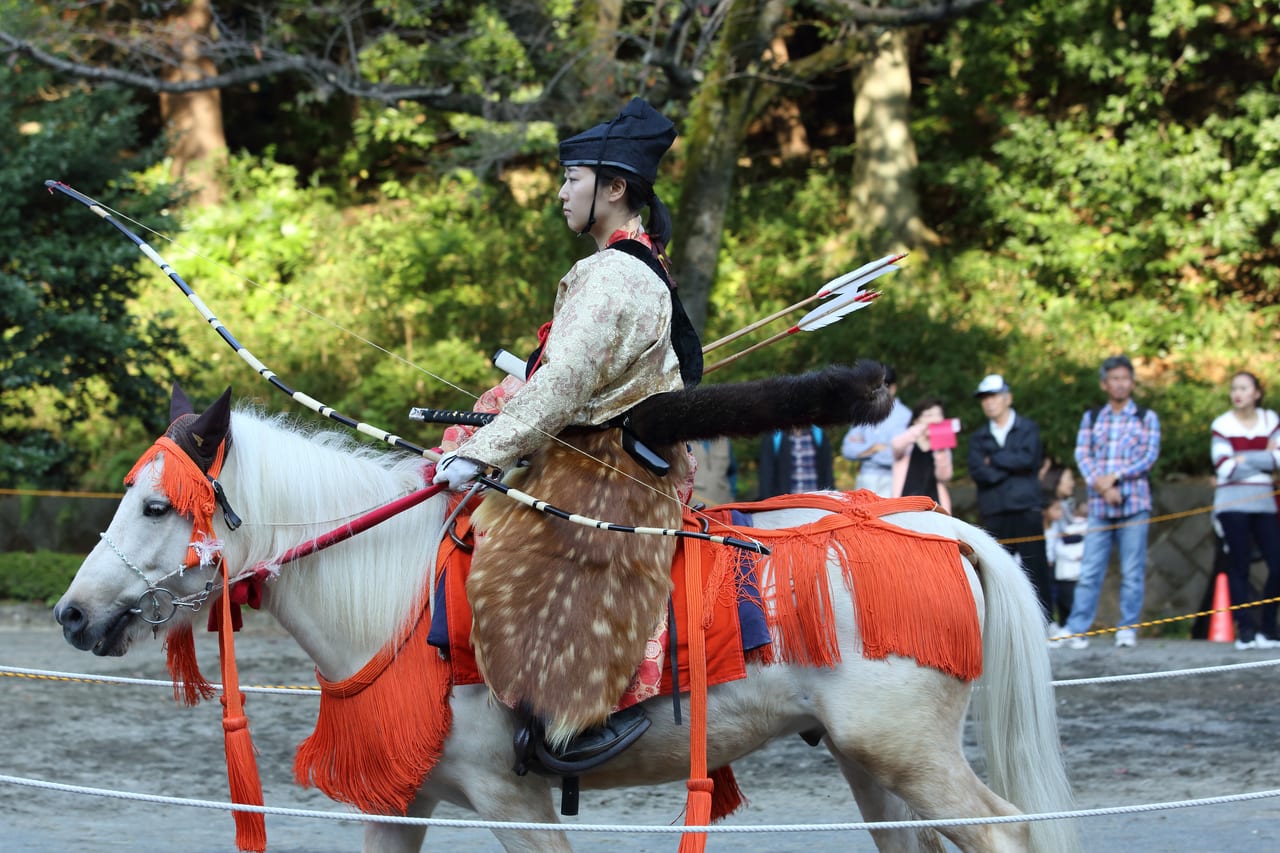
[{"label": "standing spectator man in white cap and dark jacket", "polygon": [[998,373],[978,383],[974,397],[987,416],[969,442],[969,476],[978,487],[978,514],[993,537],[1014,540],[1005,548],[1021,557],[1023,571],[1036,587],[1047,619],[1053,607],[1053,575],[1044,556],[1041,516],[1044,448],[1039,426],[1014,411],[1014,394]]}]

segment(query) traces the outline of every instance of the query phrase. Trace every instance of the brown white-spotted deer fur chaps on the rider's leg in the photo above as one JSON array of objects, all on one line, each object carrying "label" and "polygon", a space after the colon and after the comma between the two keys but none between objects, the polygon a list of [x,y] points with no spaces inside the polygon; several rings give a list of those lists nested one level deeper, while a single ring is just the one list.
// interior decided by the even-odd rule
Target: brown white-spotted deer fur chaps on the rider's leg
[{"label": "brown white-spotted deer fur chaps on the rider's leg", "polygon": [[[680,528],[684,444],[641,467],[617,429],[567,430],[506,482],[557,506],[632,526]],[[671,594],[673,537],[598,530],[489,494],[467,578],[476,665],[498,698],[526,703],[562,747],[609,716]]]}]

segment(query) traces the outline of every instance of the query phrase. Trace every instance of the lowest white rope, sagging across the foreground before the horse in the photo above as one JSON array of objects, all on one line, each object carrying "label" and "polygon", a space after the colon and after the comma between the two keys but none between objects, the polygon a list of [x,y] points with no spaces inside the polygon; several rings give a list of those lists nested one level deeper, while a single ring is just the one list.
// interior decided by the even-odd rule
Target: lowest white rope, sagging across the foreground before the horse
[{"label": "lowest white rope, sagging across the foreground before the horse", "polygon": [[[397,815],[364,815],[358,812],[326,812],[308,808],[282,808],[276,806],[246,806],[238,803],[225,803],[209,799],[189,799],[186,797],[163,797],[159,794],[136,794],[131,792],[116,792],[105,788],[86,788],[83,785],[64,785],[61,783],[44,781],[38,779],[23,779],[20,776],[0,775],[0,784],[23,785],[44,790],[56,790],[69,794],[86,794],[91,797],[109,797],[111,799],[140,800],[157,803],[163,806],[187,806],[192,808],[209,808],[219,811],[253,812],[260,815],[276,815],[282,817],[307,817],[337,821],[358,821],[376,824],[402,824],[412,826],[439,826],[449,829],[483,829],[483,830],[540,830],[549,833],[627,833],[627,834],[667,834],[682,835],[691,831],[687,826],[672,825],[634,825],[634,824],[530,824],[525,821],[480,821],[456,820],[447,817],[399,817]],[[1169,803],[1142,803],[1138,806],[1111,806],[1107,808],[1084,808],[1070,812],[1041,812],[1037,815],[1001,815],[995,817],[957,817],[936,818],[918,821],[877,821],[852,824],[754,824],[748,826],[699,826],[692,831],[707,833],[709,835],[756,834],[756,833],[849,833],[893,829],[940,829],[943,826],[980,826],[984,824],[1029,824],[1034,821],[1060,821],[1080,817],[1107,817],[1112,815],[1133,815],[1138,812],[1161,812],[1175,808],[1193,808],[1199,806],[1220,806],[1225,803],[1240,803],[1254,799],[1267,799],[1280,797],[1280,789],[1258,790],[1245,794],[1226,794],[1222,797],[1203,797],[1199,799],[1180,799]]]}]

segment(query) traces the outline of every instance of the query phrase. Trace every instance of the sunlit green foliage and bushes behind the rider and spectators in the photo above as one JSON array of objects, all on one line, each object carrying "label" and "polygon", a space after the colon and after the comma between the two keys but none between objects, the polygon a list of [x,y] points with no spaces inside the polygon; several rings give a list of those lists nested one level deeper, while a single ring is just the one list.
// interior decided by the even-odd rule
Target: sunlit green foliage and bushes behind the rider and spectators
[{"label": "sunlit green foliage and bushes behind the rider and spectators", "polygon": [[[415,8],[387,4],[385,14],[407,20]],[[438,50],[483,47],[509,70],[511,91],[536,86],[483,4],[436,12],[484,33]],[[909,403],[940,394],[973,428],[972,389],[1001,371],[1050,453],[1069,460],[1080,412],[1101,401],[1097,366],[1123,351],[1138,364],[1139,401],[1164,423],[1157,474],[1204,474],[1230,373],[1280,379],[1277,23],[1280,4],[1262,0],[1032,0],[919,31],[911,129],[937,240],[882,279],[872,309],[710,380],[876,357],[899,369]],[[388,78],[445,73],[439,56],[392,38],[366,59]],[[147,145],[161,140],[143,138],[137,99],[68,87],[46,101],[35,92],[50,81],[19,70],[0,69],[0,188],[20,200],[0,215],[12,247],[0,263],[0,482],[116,488],[161,425],[161,379],[197,401],[230,384],[289,405],[127,241],[45,197],[46,177],[172,234],[150,240],[287,383],[425,444],[438,430],[410,424],[408,406],[468,407],[498,379],[488,355],[532,346],[558,275],[589,248],[566,233],[554,200],[556,128],[410,102],[342,115],[283,87],[266,93],[278,109],[260,122],[248,119],[261,102],[228,96],[232,132],[243,131],[221,177],[225,201],[186,210],[170,206],[166,164]],[[827,91],[836,82],[847,86],[827,81]],[[794,93],[801,111],[820,114],[823,91]],[[50,132],[24,136],[29,120]],[[769,145],[753,137],[744,151],[708,341],[887,251],[851,232],[851,149],[778,165]],[[677,146],[658,187],[672,206],[698,202],[678,197],[684,163]],[[36,306],[59,346],[92,352],[40,368],[50,384],[33,396],[35,368],[13,353],[38,352],[15,342],[38,343],[41,327],[10,306],[90,284],[78,302]],[[748,462],[750,443],[739,455]]]}]

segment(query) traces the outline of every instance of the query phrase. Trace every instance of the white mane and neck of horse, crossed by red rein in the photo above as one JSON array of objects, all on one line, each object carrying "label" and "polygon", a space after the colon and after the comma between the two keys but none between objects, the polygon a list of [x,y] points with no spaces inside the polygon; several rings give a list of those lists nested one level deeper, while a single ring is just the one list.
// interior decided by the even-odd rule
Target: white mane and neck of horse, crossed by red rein
[{"label": "white mane and neck of horse, crossed by red rein", "polygon": [[[284,415],[237,407],[219,480],[243,526],[219,537],[232,570],[273,562],[285,551],[426,485],[425,460],[307,429]],[[378,649],[416,616],[434,567],[445,501],[431,497],[381,524],[280,567],[271,610],[302,608]],[[221,514],[216,514],[220,521]],[[406,571],[406,566],[412,570]]]}]

